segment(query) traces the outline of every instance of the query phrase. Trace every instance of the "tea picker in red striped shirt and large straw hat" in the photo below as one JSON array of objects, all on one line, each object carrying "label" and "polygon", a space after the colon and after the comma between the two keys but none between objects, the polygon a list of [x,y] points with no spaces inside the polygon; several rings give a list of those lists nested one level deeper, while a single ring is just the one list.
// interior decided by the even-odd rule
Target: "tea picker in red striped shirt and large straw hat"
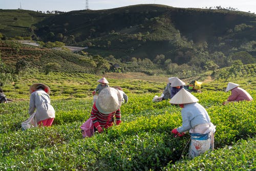
[{"label": "tea picker in red striped shirt and large straw hat", "polygon": [[122,95],[114,88],[101,90],[91,111],[95,131],[97,129],[97,131],[101,133],[103,129],[112,126],[114,122],[116,122],[117,125],[121,123],[120,107],[122,100]]}]

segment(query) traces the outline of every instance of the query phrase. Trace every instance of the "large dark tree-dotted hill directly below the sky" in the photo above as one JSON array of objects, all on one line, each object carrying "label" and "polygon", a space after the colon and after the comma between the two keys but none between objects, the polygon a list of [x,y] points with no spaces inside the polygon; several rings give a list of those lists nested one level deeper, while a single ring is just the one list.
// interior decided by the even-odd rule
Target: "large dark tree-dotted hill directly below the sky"
[{"label": "large dark tree-dotted hill directly below the sky", "polygon": [[61,41],[121,62],[147,58],[197,71],[208,61],[222,68],[237,59],[254,63],[256,56],[256,15],[241,11],[134,5],[60,14],[0,10],[0,18],[6,39]]}]

